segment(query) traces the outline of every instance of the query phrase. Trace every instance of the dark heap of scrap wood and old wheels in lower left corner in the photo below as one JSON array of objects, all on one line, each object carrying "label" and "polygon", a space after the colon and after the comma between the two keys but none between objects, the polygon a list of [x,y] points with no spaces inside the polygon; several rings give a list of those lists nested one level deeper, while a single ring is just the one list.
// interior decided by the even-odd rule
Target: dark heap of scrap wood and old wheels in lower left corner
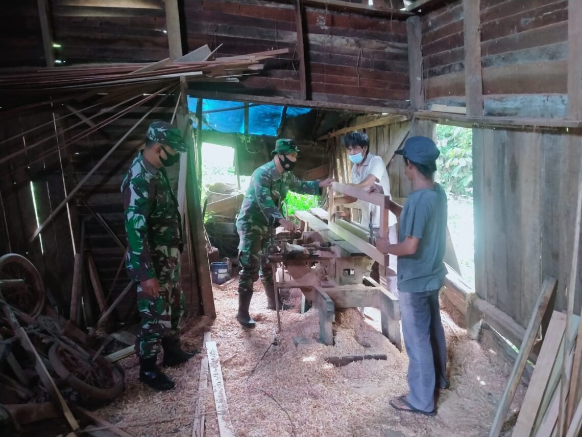
[{"label": "dark heap of scrap wood and old wheels in lower left corner", "polygon": [[[134,341],[129,333],[88,335],[45,305],[33,265],[19,255],[2,256],[0,428],[26,432],[49,418],[61,418],[52,422],[55,427],[66,424],[72,431],[80,430],[80,422],[109,428],[80,404],[112,400],[123,392],[123,371],[114,361],[133,354],[134,346],[127,344]],[[102,355],[106,347],[111,351],[120,345],[122,350]],[[113,425],[104,435],[127,436]]]}]

